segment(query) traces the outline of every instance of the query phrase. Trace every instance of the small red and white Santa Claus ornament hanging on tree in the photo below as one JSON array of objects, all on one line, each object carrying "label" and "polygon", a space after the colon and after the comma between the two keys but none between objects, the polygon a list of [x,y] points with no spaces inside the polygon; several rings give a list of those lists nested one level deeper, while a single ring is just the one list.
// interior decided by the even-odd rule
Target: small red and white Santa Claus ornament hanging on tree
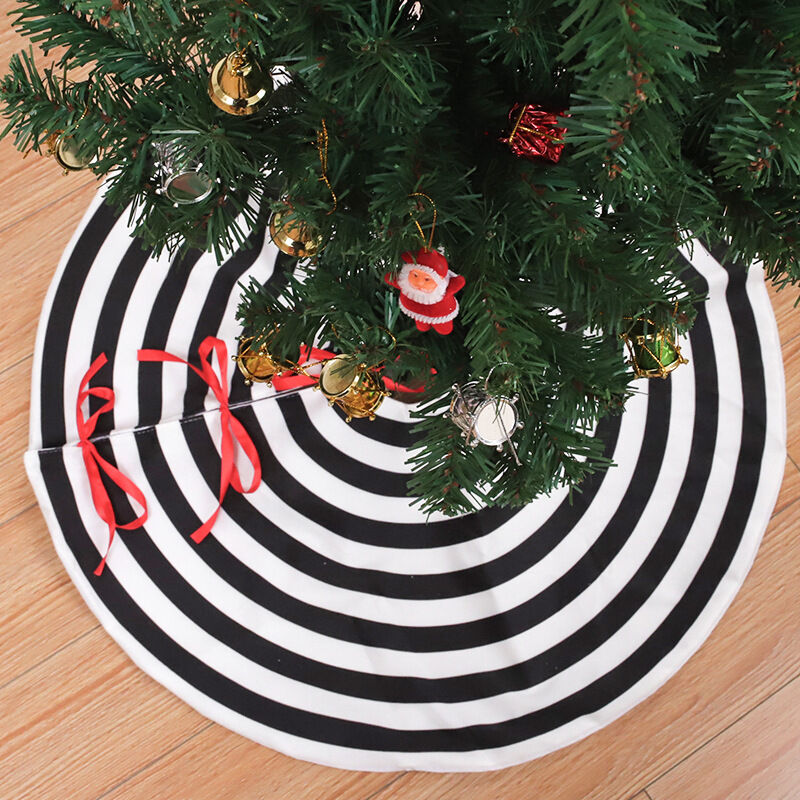
[{"label": "small red and white Santa Claus ornament hanging on tree", "polygon": [[384,280],[400,290],[400,310],[417,323],[417,329],[448,334],[458,316],[455,294],[466,281],[450,270],[447,259],[436,250],[420,248],[403,253],[405,262],[396,278],[386,273]]}]

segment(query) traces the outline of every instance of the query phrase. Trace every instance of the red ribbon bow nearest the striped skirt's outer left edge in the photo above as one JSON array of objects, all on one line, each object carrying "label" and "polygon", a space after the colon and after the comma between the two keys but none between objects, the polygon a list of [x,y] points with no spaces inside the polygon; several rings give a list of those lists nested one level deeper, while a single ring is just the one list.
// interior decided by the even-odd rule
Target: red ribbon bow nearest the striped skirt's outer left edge
[{"label": "red ribbon bow nearest the striped skirt's outer left edge", "polygon": [[[92,365],[83,376],[80,388],[78,389],[78,402],[75,409],[75,420],[78,426],[78,446],[81,448],[86,474],[89,476],[89,486],[92,490],[92,502],[94,503],[95,510],[100,519],[108,525],[108,546],[106,547],[105,555],[94,571],[95,575],[103,574],[103,568],[106,565],[106,559],[111,550],[111,543],[114,541],[114,533],[117,528],[124,531],[132,531],[136,528],[141,528],[147,521],[147,501],[139,487],[130,478],[123,475],[113,464],[106,461],[97,451],[94,442],[91,441],[91,436],[97,427],[98,418],[114,408],[113,389],[107,386],[89,388],[89,381],[92,380],[100,368],[106,363],[108,363],[108,359],[105,353],[101,353],[92,362]],[[90,397],[99,397],[101,400],[105,400],[105,403],[103,403],[89,419],[86,419],[83,416],[83,403]],[[111,505],[111,498],[108,496],[106,487],[103,485],[103,479],[100,477],[101,470],[114,484],[122,489],[125,494],[129,495],[142,507],[142,513],[132,522],[128,522],[125,525],[121,525],[117,522],[114,516],[114,507]]]}]

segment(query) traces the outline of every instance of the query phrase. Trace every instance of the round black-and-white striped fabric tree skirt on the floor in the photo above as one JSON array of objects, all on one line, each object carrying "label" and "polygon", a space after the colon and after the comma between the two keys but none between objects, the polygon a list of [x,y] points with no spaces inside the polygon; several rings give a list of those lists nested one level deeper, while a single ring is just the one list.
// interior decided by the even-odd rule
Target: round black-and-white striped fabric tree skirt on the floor
[{"label": "round black-and-white striped fabric tree skirt on the floor", "polygon": [[[783,474],[785,407],[761,271],[692,255],[710,299],[666,381],[642,381],[601,433],[618,467],[519,511],[429,524],[405,497],[407,407],[344,419],[317,392],[281,400],[229,370],[263,482],[219,486],[216,398],[189,370],[232,349],[238,281],[293,262],[263,234],[217,268],[152,260],[94,201],[45,301],[26,466],[56,549],[106,630],[201,713],[289,755],[363,770],[491,770],[607,725],[673,675],[739,589]],[[142,489],[117,534],[92,504],[75,398],[116,392],[95,443]],[[92,410],[97,410],[93,406]],[[135,515],[115,498],[118,518]]]}]

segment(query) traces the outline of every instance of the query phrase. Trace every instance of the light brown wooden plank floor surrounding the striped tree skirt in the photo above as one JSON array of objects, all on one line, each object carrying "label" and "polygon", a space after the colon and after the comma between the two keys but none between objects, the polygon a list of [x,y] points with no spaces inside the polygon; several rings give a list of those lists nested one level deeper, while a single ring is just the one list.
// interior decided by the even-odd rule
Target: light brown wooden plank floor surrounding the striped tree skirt
[{"label": "light brown wooden plank floor surrounding the striped tree skirt", "polygon": [[[0,10],[10,7],[0,0]],[[2,22],[0,69],[20,46]],[[0,800],[798,800],[800,308],[774,297],[789,458],[752,572],[708,642],[599,733],[493,773],[294,761],[201,717],[137,669],[61,567],[22,466],[39,309],[96,184],[0,142]]]}]

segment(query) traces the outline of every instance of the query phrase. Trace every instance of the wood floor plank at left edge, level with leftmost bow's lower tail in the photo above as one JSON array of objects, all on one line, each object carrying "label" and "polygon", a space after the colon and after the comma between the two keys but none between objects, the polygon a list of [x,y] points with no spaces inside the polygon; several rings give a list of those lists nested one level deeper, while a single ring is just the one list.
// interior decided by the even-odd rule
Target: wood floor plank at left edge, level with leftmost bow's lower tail
[{"label": "wood floor plank at left edge, level with leftmost bow's lower tail", "polygon": [[0,686],[99,623],[56,555],[38,507],[0,527]]}]

